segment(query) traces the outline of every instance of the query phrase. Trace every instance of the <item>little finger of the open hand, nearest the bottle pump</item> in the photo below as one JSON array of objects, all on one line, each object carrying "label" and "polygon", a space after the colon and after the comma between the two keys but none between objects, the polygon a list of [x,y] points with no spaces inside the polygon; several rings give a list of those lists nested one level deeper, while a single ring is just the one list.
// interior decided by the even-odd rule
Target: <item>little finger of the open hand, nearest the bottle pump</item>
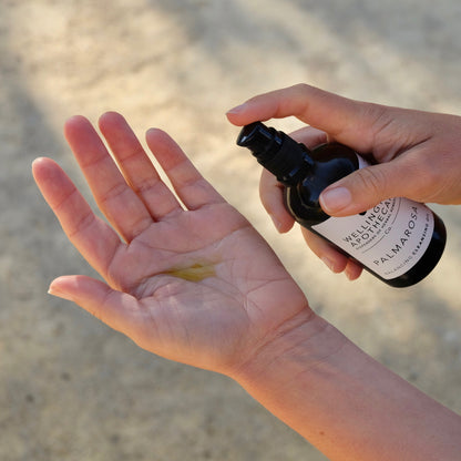
[{"label": "little finger of the open hand, nearest the bottle pump", "polygon": [[188,209],[224,202],[224,198],[201,175],[182,148],[165,132],[151,129],[146,133],[146,141],[177,196]]}]

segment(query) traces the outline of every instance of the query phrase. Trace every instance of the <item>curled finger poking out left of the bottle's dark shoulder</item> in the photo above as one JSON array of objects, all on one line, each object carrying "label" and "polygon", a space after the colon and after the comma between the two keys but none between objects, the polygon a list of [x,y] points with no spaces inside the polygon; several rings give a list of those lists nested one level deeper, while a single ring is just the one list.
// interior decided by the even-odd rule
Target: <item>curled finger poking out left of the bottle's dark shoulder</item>
[{"label": "curled finger poking out left of the bottle's dark shoulder", "polygon": [[279,233],[288,232],[295,224],[295,219],[284,205],[284,189],[277,178],[263,168],[259,181],[259,196],[266,212]]}]

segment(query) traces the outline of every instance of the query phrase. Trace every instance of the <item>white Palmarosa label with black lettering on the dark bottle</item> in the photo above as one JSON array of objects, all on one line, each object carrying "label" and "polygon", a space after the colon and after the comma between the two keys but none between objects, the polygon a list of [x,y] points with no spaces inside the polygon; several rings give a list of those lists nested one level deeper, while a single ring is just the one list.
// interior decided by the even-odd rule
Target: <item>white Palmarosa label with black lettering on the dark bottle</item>
[{"label": "white Palmarosa label with black lettering on the dark bottle", "polygon": [[[361,157],[359,161],[366,166]],[[431,242],[434,219],[426,205],[397,197],[365,214],[330,217],[311,227],[388,280],[418,263]]]}]

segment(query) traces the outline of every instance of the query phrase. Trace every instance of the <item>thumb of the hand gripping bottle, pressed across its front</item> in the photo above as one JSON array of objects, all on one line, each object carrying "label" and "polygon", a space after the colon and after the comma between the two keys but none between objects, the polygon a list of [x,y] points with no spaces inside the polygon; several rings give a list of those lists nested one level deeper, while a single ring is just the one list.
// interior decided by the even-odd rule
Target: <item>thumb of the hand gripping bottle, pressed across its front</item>
[{"label": "thumb of the hand gripping bottle, pressed across its front", "polygon": [[395,160],[367,166],[328,186],[320,194],[321,208],[331,216],[349,216],[372,208],[379,202],[406,196],[418,199],[414,191],[420,182],[409,177],[408,167]]}]

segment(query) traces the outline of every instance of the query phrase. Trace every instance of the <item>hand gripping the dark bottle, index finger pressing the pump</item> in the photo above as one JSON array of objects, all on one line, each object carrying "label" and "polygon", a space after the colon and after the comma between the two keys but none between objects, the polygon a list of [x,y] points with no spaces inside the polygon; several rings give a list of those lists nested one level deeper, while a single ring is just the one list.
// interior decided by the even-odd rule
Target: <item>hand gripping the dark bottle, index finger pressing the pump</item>
[{"label": "hand gripping the dark bottle, index finger pressing the pump", "polygon": [[[352,101],[304,84],[258,95],[227,114],[236,125],[290,115],[309,124],[293,134],[307,146],[337,141],[378,162],[324,191],[320,204],[329,215],[357,214],[395,196],[461,203],[461,117]],[[279,184],[267,172],[260,195],[279,232],[287,232],[294,219],[283,205]],[[303,232],[334,272],[346,270],[351,279],[360,275],[357,264]]]}]

